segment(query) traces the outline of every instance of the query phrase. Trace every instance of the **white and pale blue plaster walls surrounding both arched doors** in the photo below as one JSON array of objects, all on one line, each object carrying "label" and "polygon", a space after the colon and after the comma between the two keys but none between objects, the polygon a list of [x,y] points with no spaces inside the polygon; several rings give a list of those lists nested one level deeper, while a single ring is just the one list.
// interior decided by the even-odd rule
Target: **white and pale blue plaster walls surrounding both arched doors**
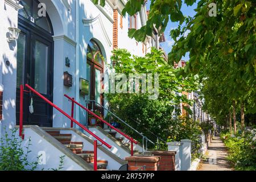
[{"label": "white and pale blue plaster walls surrounding both arched doors", "polygon": [[[106,18],[106,16],[96,7],[90,0],[77,0],[79,1],[79,17],[76,17],[76,1],[68,0],[71,6],[71,11],[68,11],[67,7],[63,5],[59,0],[39,0],[46,3],[47,13],[51,19],[53,26],[53,39],[54,42],[54,66],[53,66],[53,102],[68,114],[71,112],[71,103],[68,102],[64,94],[68,94],[71,97],[76,96],[76,92],[79,89],[79,82],[77,78],[86,78],[86,49],[90,39],[95,39],[101,47],[102,53],[106,58],[106,61],[110,63],[110,56],[112,55],[112,41],[113,41],[113,23]],[[13,7],[5,5],[5,1],[0,2],[1,6],[1,20],[2,25],[0,32],[1,40],[1,63],[0,70],[0,89],[7,88],[7,91],[3,92],[3,121],[4,126],[13,127],[15,125],[15,99],[16,99],[16,43],[7,43],[6,32],[7,27],[18,26],[18,11]],[[101,21],[96,20],[90,24],[82,23],[82,19],[93,19],[100,15]],[[118,16],[120,18],[120,15]],[[76,27],[76,20],[79,21],[79,27]],[[138,15],[137,26],[140,24],[140,18]],[[136,45],[135,40],[131,40],[127,36],[127,16],[123,18],[123,29],[120,29],[119,21],[119,48],[127,48],[131,53],[142,53],[142,44]],[[76,31],[79,28],[79,42],[77,47],[75,44]],[[102,28],[105,29],[106,35],[102,33]],[[56,39],[56,36],[61,37]],[[67,40],[65,38],[67,36]],[[108,40],[110,42],[108,42]],[[71,43],[70,43],[71,42]],[[135,48],[135,49],[134,49]],[[76,56],[76,49],[79,49],[79,55]],[[65,66],[65,57],[69,57],[71,61],[71,67]],[[10,66],[7,67],[4,59],[10,61]],[[78,68],[77,64],[79,64]],[[63,85],[63,72],[68,71],[73,75],[73,86],[67,88]],[[105,72],[108,72],[108,68],[105,67]],[[11,81],[10,81],[11,80]],[[2,84],[1,84],[2,83]],[[2,85],[2,86],[1,86]],[[5,88],[3,88],[3,86]],[[80,103],[85,105],[84,98],[80,97]],[[105,102],[106,104],[106,102]],[[76,107],[75,117],[83,124],[85,124],[85,112],[79,110]],[[0,126],[3,125],[2,121]],[[70,121],[65,118],[59,111],[53,109],[53,127],[69,127]]]}]

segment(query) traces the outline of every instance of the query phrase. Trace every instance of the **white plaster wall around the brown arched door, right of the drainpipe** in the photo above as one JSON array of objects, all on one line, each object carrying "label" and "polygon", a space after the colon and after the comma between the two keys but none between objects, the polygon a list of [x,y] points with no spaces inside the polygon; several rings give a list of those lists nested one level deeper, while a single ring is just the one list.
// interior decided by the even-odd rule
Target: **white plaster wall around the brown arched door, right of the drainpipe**
[{"label": "white plaster wall around the brown arched door, right of the drainpipe", "polygon": [[[92,3],[90,0],[81,0],[80,1],[80,17],[79,17],[79,32],[80,32],[80,42],[78,43],[79,47],[79,77],[86,77],[86,52],[87,46],[91,39],[96,40],[98,45],[101,48],[102,55],[105,57],[107,63],[110,63],[110,56],[112,55],[112,40],[113,40],[113,23],[110,22],[108,18]],[[90,20],[94,19],[97,16],[100,18],[94,20],[92,23],[84,24],[82,19]],[[107,35],[104,36],[103,30],[105,29]],[[110,40],[110,43],[107,41]],[[108,72],[108,68],[104,66],[104,72]],[[86,105],[85,98],[80,95],[80,104]],[[78,113],[77,113],[78,114]],[[86,124],[86,112],[79,109],[79,121],[82,124]]]}]

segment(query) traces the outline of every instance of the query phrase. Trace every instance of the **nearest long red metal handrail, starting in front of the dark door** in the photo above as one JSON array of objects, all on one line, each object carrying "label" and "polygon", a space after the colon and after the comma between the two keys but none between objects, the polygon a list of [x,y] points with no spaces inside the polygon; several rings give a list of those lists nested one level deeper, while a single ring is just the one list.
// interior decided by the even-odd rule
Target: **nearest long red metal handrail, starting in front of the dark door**
[{"label": "nearest long red metal handrail, starting in front of the dark door", "polygon": [[[39,92],[37,92],[35,89],[33,89],[30,85],[26,84],[25,85],[29,90],[31,90],[32,92],[34,92],[36,95],[38,95],[40,98],[42,98],[44,101],[46,101],[49,105],[51,105],[52,107],[54,107],[55,109],[57,109],[58,111],[60,111],[61,114],[65,115],[65,117],[71,119],[72,122],[75,122],[76,125],[80,126],[83,130],[85,130],[87,133],[89,133],[90,135],[92,135],[94,138],[96,138],[97,140],[99,140],[102,144],[104,144],[106,147],[108,148],[112,148],[112,146],[110,146],[108,143],[104,142],[104,140],[102,140],[101,138],[99,138],[97,135],[95,135],[94,133],[92,133],[92,131],[88,130],[85,126],[83,126],[81,123],[79,123],[78,121],[76,121],[76,119],[72,118],[70,115],[68,115],[67,113],[65,113],[63,110],[61,110],[58,106],[56,106],[55,104],[53,104],[51,101],[49,101],[46,97],[42,96],[42,94],[40,94]],[[23,85],[20,85],[20,88],[23,88]],[[25,90],[20,90],[20,92],[24,92]],[[23,94],[20,93],[20,96]],[[23,103],[23,100],[21,100],[22,97],[20,97],[20,102]],[[23,104],[20,104],[20,117],[19,120],[20,120],[20,131],[19,131],[19,134],[22,134],[22,125],[23,125]],[[22,137],[22,136],[20,136]]]}]

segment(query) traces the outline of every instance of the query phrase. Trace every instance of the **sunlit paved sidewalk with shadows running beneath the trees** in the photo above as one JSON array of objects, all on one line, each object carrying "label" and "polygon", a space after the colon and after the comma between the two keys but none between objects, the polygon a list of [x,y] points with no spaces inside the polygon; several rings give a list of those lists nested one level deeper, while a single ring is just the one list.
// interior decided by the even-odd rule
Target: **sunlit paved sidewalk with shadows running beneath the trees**
[{"label": "sunlit paved sidewalk with shadows running beneath the trees", "polygon": [[206,153],[206,159],[199,164],[197,171],[231,171],[232,168],[226,160],[227,155],[227,149],[220,137],[213,137]]}]

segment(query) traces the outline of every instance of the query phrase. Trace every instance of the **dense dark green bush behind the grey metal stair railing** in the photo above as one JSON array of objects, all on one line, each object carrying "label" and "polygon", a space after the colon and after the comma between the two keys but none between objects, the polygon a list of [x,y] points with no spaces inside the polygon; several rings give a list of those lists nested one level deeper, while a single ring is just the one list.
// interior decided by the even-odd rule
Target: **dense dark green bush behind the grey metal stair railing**
[{"label": "dense dark green bush behind the grey metal stair railing", "polygon": [[[167,138],[170,135],[168,128],[172,124],[170,123],[172,106],[166,106],[159,100],[148,100],[146,94],[108,94],[107,98],[112,111],[118,117],[153,142],[156,142],[156,137],[150,131],[161,138]],[[140,135],[126,125],[122,127],[125,133],[142,142]]]}]

